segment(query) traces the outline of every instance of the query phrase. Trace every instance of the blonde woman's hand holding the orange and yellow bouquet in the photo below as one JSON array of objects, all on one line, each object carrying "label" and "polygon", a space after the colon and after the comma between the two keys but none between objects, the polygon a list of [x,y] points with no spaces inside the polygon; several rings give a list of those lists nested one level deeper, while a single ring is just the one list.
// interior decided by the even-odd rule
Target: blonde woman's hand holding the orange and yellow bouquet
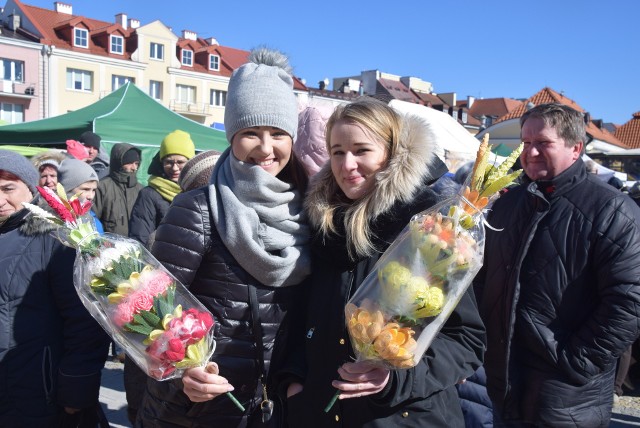
[{"label": "blonde woman's hand holding the orange and yellow bouquet", "polygon": [[389,369],[366,362],[345,363],[338,369],[344,380],[334,380],[332,385],[342,391],[340,399],[364,397],[382,391],[389,382],[389,373]]}]

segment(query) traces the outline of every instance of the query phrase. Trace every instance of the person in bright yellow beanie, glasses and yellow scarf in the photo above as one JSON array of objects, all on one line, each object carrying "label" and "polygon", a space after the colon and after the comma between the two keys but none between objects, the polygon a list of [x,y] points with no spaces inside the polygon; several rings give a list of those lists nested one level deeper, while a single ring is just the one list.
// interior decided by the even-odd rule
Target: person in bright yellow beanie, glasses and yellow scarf
[{"label": "person in bright yellow beanie, glasses and yellow scarf", "polygon": [[173,198],[180,193],[180,171],[195,156],[195,146],[189,133],[175,130],[169,133],[160,151],[149,165],[149,185],[140,191],[129,219],[129,237],[151,247],[149,238],[169,210]]}]

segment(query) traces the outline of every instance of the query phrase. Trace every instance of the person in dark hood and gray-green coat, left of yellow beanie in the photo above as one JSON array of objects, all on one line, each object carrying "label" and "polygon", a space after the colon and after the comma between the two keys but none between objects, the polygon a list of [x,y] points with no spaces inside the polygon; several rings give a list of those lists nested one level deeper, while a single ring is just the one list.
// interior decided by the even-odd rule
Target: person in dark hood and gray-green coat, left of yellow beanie
[{"label": "person in dark hood and gray-green coat, left of yellow beanie", "polygon": [[109,176],[100,180],[93,200],[93,210],[105,232],[129,236],[129,218],[142,189],[136,177],[140,155],[140,149],[128,143],[116,144],[111,149]]}]

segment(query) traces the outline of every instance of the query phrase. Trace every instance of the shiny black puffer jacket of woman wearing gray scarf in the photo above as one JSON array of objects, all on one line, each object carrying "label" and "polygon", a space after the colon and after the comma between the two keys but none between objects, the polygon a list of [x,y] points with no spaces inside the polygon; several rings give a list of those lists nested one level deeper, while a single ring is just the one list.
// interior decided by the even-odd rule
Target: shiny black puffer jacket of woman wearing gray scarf
[{"label": "shiny black puffer jacket of woman wearing gray scarf", "polygon": [[[247,411],[243,415],[225,395],[192,403],[182,392],[180,380],[149,380],[138,412],[145,428],[237,427],[247,419],[249,426],[255,422],[251,415],[256,409],[259,413],[262,390],[248,284],[257,288],[267,370],[277,369],[287,352],[288,313],[300,287],[270,288],[244,271],[213,226],[208,200],[206,187],[176,196],[156,231],[152,253],[213,313],[217,346],[212,360]],[[270,379],[268,387],[275,400]]]}]

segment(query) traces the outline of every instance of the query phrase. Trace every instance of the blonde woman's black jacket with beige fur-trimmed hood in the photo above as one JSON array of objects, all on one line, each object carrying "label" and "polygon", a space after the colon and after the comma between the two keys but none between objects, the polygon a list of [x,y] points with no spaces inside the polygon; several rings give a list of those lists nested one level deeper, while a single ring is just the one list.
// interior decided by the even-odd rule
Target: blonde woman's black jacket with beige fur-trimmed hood
[{"label": "blonde woman's black jacket with beige fur-trimmed hood", "polygon": [[[354,358],[345,328],[345,304],[411,217],[438,201],[428,187],[444,173],[438,170],[441,163],[433,154],[434,141],[421,121],[408,120],[400,147],[388,167],[378,172],[371,195],[372,209],[381,211],[369,218],[378,251],[357,260],[348,256],[341,213],[334,217],[338,233],[316,236],[314,241],[304,349],[282,372],[282,391],[293,381],[304,387],[287,400],[291,428],[464,427],[455,384],[476,370],[484,351],[484,326],[471,289],[416,367],[393,370],[381,392],[339,400],[324,412],[335,393],[331,382],[339,378],[338,367]],[[305,201],[313,225],[329,206],[323,189],[333,180],[330,165],[315,180]]]}]

